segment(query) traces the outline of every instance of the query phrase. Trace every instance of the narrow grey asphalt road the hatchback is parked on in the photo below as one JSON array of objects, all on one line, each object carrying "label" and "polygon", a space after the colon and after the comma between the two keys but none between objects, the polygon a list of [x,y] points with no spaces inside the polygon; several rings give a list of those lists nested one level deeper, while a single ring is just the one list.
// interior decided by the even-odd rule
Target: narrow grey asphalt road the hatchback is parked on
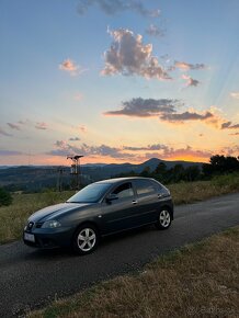
[{"label": "narrow grey asphalt road the hatchback is parked on", "polygon": [[21,241],[0,246],[0,317],[24,317],[30,308],[138,270],[166,251],[239,225],[239,193],[177,206],[174,215],[166,231],[150,226],[117,235],[84,257],[39,251]]}]

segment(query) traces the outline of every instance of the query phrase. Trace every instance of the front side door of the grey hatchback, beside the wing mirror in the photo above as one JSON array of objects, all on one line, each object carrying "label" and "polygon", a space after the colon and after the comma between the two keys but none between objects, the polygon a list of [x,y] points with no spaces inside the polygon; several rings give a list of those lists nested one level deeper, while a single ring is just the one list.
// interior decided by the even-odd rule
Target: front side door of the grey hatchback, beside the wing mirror
[{"label": "front side door of the grey hatchback, beside the wing mirror", "polygon": [[[107,201],[107,197],[113,200]],[[117,184],[102,203],[103,235],[135,227],[136,205],[132,182]]]}]

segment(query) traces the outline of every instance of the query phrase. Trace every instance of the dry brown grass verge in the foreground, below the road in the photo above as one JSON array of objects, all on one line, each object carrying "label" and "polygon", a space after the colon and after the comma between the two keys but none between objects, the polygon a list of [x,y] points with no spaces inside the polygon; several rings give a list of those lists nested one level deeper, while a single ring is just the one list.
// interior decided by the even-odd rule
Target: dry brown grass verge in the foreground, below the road
[{"label": "dry brown grass verge in the foreground, below the road", "polygon": [[27,317],[239,317],[238,273],[239,227]]}]

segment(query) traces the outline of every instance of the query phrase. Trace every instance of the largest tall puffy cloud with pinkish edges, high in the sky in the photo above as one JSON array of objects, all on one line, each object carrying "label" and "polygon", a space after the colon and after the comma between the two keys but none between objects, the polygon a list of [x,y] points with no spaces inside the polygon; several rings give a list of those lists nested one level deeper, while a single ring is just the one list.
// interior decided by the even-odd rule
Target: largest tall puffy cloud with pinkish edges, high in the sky
[{"label": "largest tall puffy cloud with pinkish edges, high in the sky", "polygon": [[152,44],[144,45],[141,35],[135,35],[125,29],[110,31],[110,34],[113,43],[104,53],[105,67],[101,71],[102,75],[138,75],[147,79],[171,79],[159,65],[158,58],[152,56]]}]

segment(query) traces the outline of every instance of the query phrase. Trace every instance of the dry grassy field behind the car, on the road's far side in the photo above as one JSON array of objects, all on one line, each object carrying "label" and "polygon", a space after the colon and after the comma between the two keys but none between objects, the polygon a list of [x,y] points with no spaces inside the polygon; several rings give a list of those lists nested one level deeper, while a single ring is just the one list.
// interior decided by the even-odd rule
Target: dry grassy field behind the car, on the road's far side
[{"label": "dry grassy field behind the car, on the road's far side", "polygon": [[[221,175],[212,181],[182,182],[168,186],[174,204],[192,203],[210,196],[239,192],[239,174]],[[21,238],[27,217],[47,205],[66,201],[73,192],[15,194],[13,204],[0,207],[0,243]]]}]

